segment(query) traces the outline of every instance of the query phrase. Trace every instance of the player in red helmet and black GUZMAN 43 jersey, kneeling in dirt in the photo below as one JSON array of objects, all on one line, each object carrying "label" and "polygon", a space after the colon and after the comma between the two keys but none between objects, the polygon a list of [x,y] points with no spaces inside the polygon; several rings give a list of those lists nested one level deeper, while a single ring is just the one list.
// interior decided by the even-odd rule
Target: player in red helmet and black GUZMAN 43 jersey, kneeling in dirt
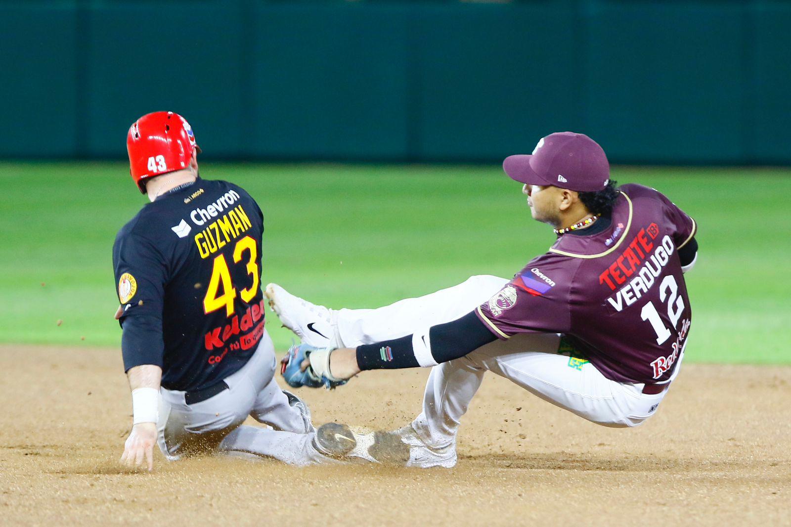
[{"label": "player in red helmet and black GUZMAN 43 jersey, kneeling in dirt", "polygon": [[[173,112],[138,119],[127,150],[151,203],[112,251],[134,417],[121,461],[151,470],[158,442],[171,461],[210,452],[337,463],[305,404],[274,381],[258,204],[237,185],[199,178],[195,135]],[[243,426],[248,415],[268,427]]]}]

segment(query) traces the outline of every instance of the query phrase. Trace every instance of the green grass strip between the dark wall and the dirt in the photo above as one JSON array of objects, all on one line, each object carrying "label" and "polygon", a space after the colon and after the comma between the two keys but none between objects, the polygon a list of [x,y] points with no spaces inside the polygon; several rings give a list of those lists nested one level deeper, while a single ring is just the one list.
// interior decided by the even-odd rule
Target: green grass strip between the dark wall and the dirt
[{"label": "green grass strip between the dark wall and the dirt", "polygon": [[[496,165],[207,162],[202,176],[240,184],[260,203],[263,284],[331,307],[511,276],[554,238]],[[791,362],[782,213],[791,170],[615,167],[613,176],[664,191],[698,221],[687,360]],[[112,242],[146,203],[127,165],[6,162],[0,186],[0,342],[118,346]],[[267,327],[282,349],[290,332],[276,325]]]}]

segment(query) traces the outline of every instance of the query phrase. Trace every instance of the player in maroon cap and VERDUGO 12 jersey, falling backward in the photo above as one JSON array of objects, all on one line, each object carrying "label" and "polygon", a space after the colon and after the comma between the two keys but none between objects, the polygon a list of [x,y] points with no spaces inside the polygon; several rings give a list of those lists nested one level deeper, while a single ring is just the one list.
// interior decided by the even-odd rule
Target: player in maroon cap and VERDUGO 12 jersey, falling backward
[{"label": "player in maroon cap and VERDUGO 12 jersey, falling backward", "polygon": [[616,188],[604,150],[586,135],[548,135],[503,168],[524,184],[532,217],[558,235],[513,279],[473,276],[380,309],[327,309],[267,286],[303,342],[283,359],[292,386],[433,367],[410,425],[324,425],[333,452],[454,466],[456,431],[487,370],[606,427],[636,427],[657,411],[690,332],[683,273],[697,258],[695,222],[652,188]]}]

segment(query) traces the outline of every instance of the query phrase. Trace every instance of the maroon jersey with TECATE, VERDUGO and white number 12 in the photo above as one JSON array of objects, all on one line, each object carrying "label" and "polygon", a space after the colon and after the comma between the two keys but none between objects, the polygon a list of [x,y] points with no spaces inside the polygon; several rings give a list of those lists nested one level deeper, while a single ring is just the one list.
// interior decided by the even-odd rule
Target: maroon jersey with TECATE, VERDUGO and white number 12
[{"label": "maroon jersey with TECATE, VERDUGO and white number 12", "polygon": [[500,339],[565,333],[605,377],[653,384],[668,380],[689,335],[678,249],[696,227],[653,188],[619,190],[607,229],[559,237],[475,313]]}]

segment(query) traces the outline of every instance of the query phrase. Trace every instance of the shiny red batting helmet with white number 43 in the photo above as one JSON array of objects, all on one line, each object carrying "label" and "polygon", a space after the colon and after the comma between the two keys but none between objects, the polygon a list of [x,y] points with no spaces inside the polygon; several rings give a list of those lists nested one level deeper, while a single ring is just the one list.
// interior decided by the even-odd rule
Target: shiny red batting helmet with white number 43
[{"label": "shiny red batting helmet with white number 43", "polygon": [[190,165],[195,144],[187,119],[173,112],[153,112],[136,120],[127,134],[129,173],[143,194],[146,180]]}]

